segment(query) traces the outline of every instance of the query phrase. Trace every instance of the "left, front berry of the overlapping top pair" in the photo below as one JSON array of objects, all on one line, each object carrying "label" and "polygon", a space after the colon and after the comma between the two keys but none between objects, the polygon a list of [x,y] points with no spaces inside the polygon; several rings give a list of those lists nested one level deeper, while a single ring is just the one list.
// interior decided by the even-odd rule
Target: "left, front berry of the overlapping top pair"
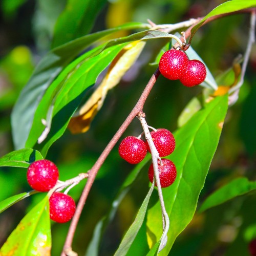
[{"label": "left, front berry of the overlapping top pair", "polygon": [[160,58],[159,71],[170,80],[180,79],[186,72],[188,61],[188,57],[184,52],[169,50]]}]

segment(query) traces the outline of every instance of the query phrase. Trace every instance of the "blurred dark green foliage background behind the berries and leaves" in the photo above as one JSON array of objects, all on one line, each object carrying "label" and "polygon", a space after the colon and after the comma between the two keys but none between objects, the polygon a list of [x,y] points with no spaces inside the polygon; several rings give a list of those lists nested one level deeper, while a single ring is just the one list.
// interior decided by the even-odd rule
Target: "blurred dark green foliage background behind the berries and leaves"
[{"label": "blurred dark green foliage background behind the berries and leaves", "polygon": [[[68,2],[68,1],[67,1]],[[55,24],[70,0],[2,0],[0,13],[0,157],[13,151],[10,114],[12,107],[33,72],[36,63],[54,45]],[[191,17],[206,15],[225,1],[124,0],[101,1],[102,9],[88,26],[96,32],[125,22],[143,22],[149,18],[156,24],[172,24]],[[222,18],[202,27],[193,39],[193,48],[217,77],[232,66],[232,61],[244,53],[249,27],[249,15],[238,14]],[[116,36],[124,36],[122,32]],[[77,36],[81,36],[81,34]],[[64,40],[64,39],[63,39]],[[125,117],[132,110],[151,75],[156,70],[154,50],[160,41],[147,42],[134,67],[123,77],[119,86],[110,91],[104,105],[92,122],[91,129],[81,135],[65,133],[50,148],[47,158],[60,170],[60,179],[74,177],[91,168],[105,145],[110,141]],[[228,181],[246,176],[255,180],[256,153],[256,51],[252,51],[245,83],[238,102],[231,106],[221,140],[211,164],[200,202]],[[232,78],[230,84],[232,83]],[[254,87],[253,87],[254,86]],[[185,105],[202,88],[187,89],[180,82],[160,77],[148,97],[144,111],[147,123],[155,128],[177,129],[177,119]],[[125,105],[125,108],[123,106]],[[118,115],[113,119],[113,113]],[[123,137],[138,136],[141,127],[134,120]],[[108,212],[119,186],[133,168],[118,157],[117,146],[100,169],[84,208],[75,234],[74,249],[79,255],[86,251],[97,222]],[[100,255],[112,255],[123,232],[130,226],[147,189],[147,168],[139,175],[130,193],[121,203],[114,221],[103,238]],[[81,182],[70,194],[78,200],[84,185]],[[26,169],[1,167],[0,200],[28,191]],[[0,245],[25,213],[42,195],[34,195],[10,207],[0,216]],[[196,214],[178,237],[171,255],[249,255],[247,244],[256,238],[256,196],[250,194]],[[199,202],[199,203],[200,203]],[[60,254],[65,241],[67,224],[52,225],[52,255]],[[253,235],[253,233],[255,233]],[[184,246],[185,245],[185,246]]]}]

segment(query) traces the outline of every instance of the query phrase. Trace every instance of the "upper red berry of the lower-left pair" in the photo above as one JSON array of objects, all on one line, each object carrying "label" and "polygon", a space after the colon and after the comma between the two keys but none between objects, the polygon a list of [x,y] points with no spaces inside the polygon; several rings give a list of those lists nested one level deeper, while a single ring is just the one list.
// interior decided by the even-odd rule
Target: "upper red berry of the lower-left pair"
[{"label": "upper red berry of the lower-left pair", "polygon": [[55,186],[58,178],[58,168],[49,160],[38,160],[29,165],[27,180],[29,185],[37,191],[49,191]]}]

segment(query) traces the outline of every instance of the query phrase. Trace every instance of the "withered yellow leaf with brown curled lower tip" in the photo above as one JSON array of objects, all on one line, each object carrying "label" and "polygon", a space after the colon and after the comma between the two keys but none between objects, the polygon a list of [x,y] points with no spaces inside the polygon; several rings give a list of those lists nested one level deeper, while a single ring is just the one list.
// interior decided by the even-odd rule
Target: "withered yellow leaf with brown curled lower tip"
[{"label": "withered yellow leaf with brown curled lower tip", "polygon": [[119,83],[126,71],[131,68],[144,45],[144,41],[134,41],[125,46],[114,58],[101,84],[80,108],[78,114],[71,118],[68,125],[71,133],[85,133],[89,130],[90,124],[100,110],[106,94]]}]

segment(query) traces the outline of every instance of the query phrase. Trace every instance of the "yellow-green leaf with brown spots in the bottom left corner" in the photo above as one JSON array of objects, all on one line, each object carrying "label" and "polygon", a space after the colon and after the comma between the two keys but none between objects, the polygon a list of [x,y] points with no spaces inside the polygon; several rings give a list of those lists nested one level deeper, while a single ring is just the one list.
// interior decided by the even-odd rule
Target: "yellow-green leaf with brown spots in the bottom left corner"
[{"label": "yellow-green leaf with brown spots in the bottom left corner", "polygon": [[45,197],[23,219],[0,250],[0,255],[50,255],[49,200]]}]

